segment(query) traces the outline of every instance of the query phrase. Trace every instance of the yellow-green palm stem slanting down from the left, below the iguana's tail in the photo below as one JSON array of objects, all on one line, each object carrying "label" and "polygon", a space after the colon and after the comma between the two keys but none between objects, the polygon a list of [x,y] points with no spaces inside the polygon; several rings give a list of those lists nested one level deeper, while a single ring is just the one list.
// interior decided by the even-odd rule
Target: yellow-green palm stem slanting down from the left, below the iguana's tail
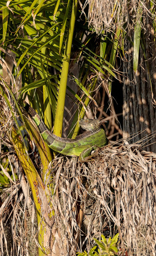
[{"label": "yellow-green palm stem slanting down from the left, below the iguana's tail", "polygon": [[[48,205],[48,200],[45,195],[45,185],[41,180],[37,170],[35,169],[31,158],[28,156],[27,152],[25,151],[24,145],[22,141],[19,139],[19,136],[15,130],[12,128],[11,131],[11,141],[14,145],[15,151],[17,153],[17,157],[22,165],[22,168],[27,176],[29,185],[31,187],[31,191],[33,194],[33,200],[36,207],[36,214],[37,214],[37,221],[38,221],[38,239],[40,247],[45,251],[45,244],[46,244],[46,223],[50,223],[51,219],[48,216],[46,221],[42,218],[41,219],[41,207],[42,204]],[[49,219],[49,220],[48,220]],[[48,221],[48,222],[47,222]],[[44,255],[45,253],[39,247],[39,256]],[[46,251],[49,251],[50,248],[46,248]]]}]

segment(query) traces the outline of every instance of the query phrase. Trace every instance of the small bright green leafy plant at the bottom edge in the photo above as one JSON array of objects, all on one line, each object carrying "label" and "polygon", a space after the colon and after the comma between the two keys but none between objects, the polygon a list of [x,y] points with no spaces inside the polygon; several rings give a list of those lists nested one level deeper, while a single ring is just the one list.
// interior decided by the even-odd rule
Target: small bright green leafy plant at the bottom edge
[{"label": "small bright green leafy plant at the bottom edge", "polygon": [[107,240],[104,235],[101,235],[101,242],[97,239],[94,239],[97,246],[94,246],[89,250],[89,253],[86,251],[78,253],[78,256],[116,256],[117,255],[117,242],[119,234],[117,233],[112,239],[111,237]]}]

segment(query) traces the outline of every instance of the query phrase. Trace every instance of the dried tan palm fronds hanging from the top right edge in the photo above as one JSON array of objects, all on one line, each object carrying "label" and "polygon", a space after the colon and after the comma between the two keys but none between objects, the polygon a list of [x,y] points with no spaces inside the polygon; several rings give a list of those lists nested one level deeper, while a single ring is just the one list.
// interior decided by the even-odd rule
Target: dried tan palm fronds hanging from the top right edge
[{"label": "dried tan palm fronds hanging from the top right edge", "polygon": [[146,0],[86,0],[83,6],[84,13],[87,5],[89,5],[89,26],[92,26],[97,34],[102,31],[114,31],[117,26],[123,28],[130,19],[138,21],[144,13],[150,16],[152,13],[153,17],[156,17],[154,1],[151,1],[150,6]]}]

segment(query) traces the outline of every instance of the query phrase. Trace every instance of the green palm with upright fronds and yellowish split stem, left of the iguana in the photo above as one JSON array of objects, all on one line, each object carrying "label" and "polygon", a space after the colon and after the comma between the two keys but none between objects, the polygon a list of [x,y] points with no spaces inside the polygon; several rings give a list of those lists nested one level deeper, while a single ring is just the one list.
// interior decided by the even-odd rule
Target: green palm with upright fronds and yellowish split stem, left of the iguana
[{"label": "green palm with upright fronds and yellowish split stem, left of the iguana", "polygon": [[[3,102],[1,105],[1,123],[3,124],[1,139],[6,144],[4,136],[7,130],[10,131],[7,133],[10,141],[7,146],[13,146],[17,154],[18,159],[16,158],[14,162],[15,169],[17,167],[16,172],[18,177],[21,177],[23,170],[31,187],[38,221],[39,255],[42,255],[43,251],[50,253],[52,248],[55,248],[55,253],[60,253],[60,237],[59,234],[56,235],[56,227],[53,227],[55,213],[50,204],[54,184],[49,166],[53,156],[31,121],[22,115],[20,104],[23,99],[29,100],[33,108],[42,116],[47,127],[51,130],[54,123],[54,133],[61,136],[72,49],[73,61],[70,66],[70,77],[75,83],[75,89],[69,87],[68,90],[72,93],[78,110],[74,114],[72,121],[74,129],[70,136],[72,134],[76,136],[79,129],[76,125],[78,116],[83,118],[89,101],[93,100],[92,91],[95,89],[98,73],[101,73],[101,77],[104,76],[105,68],[111,76],[115,76],[112,72],[113,66],[108,62],[105,63],[96,51],[92,52],[94,50],[93,35],[89,33],[89,28],[83,22],[77,20],[79,17],[77,8],[77,0],[57,1],[57,3],[51,0],[22,1],[18,4],[12,1],[9,6],[4,2],[1,7],[3,20],[3,27],[1,27],[3,38],[0,48],[2,60],[0,90]],[[79,28],[81,26],[76,31],[74,31],[75,20],[77,26]],[[75,40],[73,40],[73,33]],[[98,44],[98,40],[95,43]],[[81,64],[79,78],[72,74],[76,62]],[[95,75],[88,81],[91,74]],[[77,93],[78,88],[83,93]],[[12,122],[15,122],[16,126],[12,126],[12,122],[9,123],[11,126],[7,126],[8,108],[11,111],[9,118],[14,120]],[[6,111],[3,111],[4,109]],[[28,144],[29,139],[21,140],[25,130],[17,122],[17,112],[30,138],[33,138],[37,145],[42,171],[34,163],[34,154],[27,153],[28,148],[25,144]],[[20,171],[18,161],[22,167]],[[48,188],[47,182],[51,184]],[[25,191],[26,182],[21,182],[21,185],[25,196],[28,197],[27,207],[30,214],[33,205],[30,196],[27,196]],[[49,214],[47,214],[47,209],[49,209]],[[48,245],[51,236],[51,245]],[[66,251],[66,247],[64,250]]]}]

